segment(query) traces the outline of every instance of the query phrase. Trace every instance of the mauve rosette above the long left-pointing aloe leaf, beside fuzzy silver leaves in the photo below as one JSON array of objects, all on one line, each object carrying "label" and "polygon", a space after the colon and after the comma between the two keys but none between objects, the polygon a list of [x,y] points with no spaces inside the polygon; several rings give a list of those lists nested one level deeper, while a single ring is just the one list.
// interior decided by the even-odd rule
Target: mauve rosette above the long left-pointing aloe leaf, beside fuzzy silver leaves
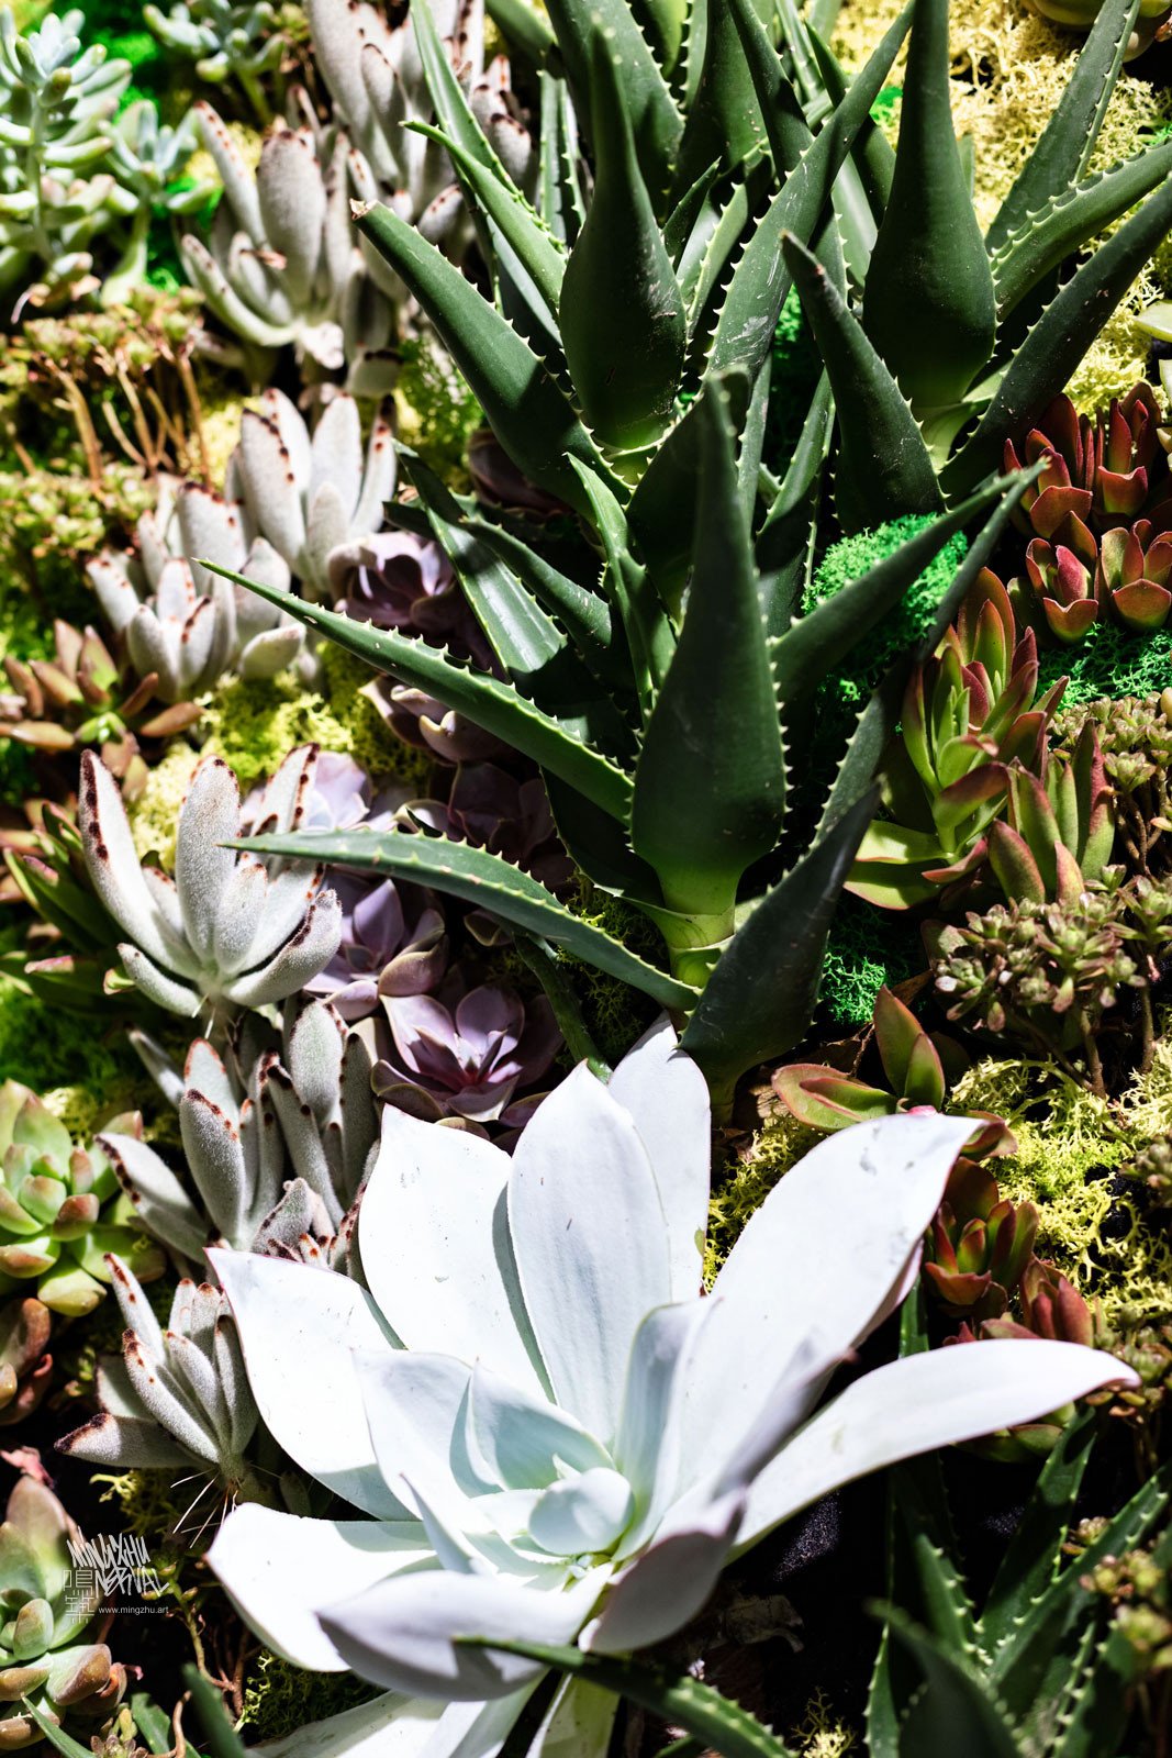
[{"label": "mauve rosette above the long left-pointing aloe leaf, beside fuzzy silver leaves", "polygon": [[462,659],[492,668],[492,650],[438,543],[409,531],[380,531],[330,557],[337,608],[378,629],[422,635]]}]

